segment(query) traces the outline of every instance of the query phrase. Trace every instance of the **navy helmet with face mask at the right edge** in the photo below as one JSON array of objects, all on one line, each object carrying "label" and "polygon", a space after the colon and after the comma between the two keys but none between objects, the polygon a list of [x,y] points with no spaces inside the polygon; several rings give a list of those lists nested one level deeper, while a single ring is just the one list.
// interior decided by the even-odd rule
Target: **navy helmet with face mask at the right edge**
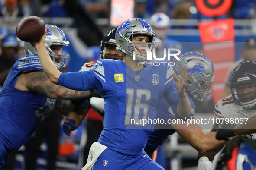
[{"label": "navy helmet with face mask at the right edge", "polygon": [[[243,106],[246,109],[250,109],[256,104],[256,98],[248,102],[240,101],[237,96],[237,85],[250,82],[254,82],[254,84],[256,83],[256,62],[253,60],[242,61],[231,73],[229,85],[234,102],[238,105]],[[242,95],[250,94],[251,96],[253,95],[252,93],[255,92],[256,91],[254,90],[249,93],[244,93]]]}]

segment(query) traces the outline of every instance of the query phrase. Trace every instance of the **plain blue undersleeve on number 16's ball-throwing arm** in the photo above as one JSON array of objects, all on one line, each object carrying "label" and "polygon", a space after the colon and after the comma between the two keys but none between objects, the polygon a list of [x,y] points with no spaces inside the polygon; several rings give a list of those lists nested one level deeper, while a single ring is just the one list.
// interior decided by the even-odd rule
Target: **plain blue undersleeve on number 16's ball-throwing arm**
[{"label": "plain blue undersleeve on number 16's ball-throwing arm", "polygon": [[101,82],[90,71],[61,73],[57,85],[80,91],[103,89]]}]

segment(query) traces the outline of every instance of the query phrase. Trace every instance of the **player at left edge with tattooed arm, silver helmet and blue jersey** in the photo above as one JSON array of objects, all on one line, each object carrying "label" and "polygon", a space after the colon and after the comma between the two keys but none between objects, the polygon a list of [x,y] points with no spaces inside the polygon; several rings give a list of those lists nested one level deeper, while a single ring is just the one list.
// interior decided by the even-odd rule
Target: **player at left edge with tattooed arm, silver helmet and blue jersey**
[{"label": "player at left edge with tattooed arm, silver helmet and blue jersey", "polygon": [[[54,25],[46,25],[46,28],[47,53],[56,66],[65,66],[68,55],[61,50],[62,46],[69,44],[65,34]],[[71,111],[70,101],[56,99],[78,99],[90,95],[88,91],[74,91],[51,83],[31,44],[25,43],[25,52],[26,56],[13,65],[0,91],[0,169],[7,161],[8,153],[18,150],[52,110],[65,114]]]}]

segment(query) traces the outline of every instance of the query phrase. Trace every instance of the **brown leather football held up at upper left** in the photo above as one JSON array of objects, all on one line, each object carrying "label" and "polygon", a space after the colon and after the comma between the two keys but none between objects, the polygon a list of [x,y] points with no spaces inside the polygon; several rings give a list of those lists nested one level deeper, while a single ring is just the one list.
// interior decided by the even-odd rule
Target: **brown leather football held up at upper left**
[{"label": "brown leather football held up at upper left", "polygon": [[22,19],[16,27],[17,37],[26,42],[39,40],[44,34],[45,22],[37,16]]}]

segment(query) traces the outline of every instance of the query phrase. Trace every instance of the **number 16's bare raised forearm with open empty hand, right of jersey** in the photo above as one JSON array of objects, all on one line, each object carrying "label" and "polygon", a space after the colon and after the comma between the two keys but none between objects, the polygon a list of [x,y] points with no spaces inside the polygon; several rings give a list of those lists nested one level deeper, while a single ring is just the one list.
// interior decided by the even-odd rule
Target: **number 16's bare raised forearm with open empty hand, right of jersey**
[{"label": "number 16's bare raised forearm with open empty hand, right of jersey", "polygon": [[186,82],[188,81],[188,78],[190,76],[190,72],[188,72],[188,67],[183,67],[181,72],[181,77],[178,79],[178,76],[174,73],[173,78],[175,80],[175,87],[178,91],[178,107],[177,107],[177,113],[180,117],[185,118],[190,115],[191,111],[191,104],[187,98],[185,87]]}]

